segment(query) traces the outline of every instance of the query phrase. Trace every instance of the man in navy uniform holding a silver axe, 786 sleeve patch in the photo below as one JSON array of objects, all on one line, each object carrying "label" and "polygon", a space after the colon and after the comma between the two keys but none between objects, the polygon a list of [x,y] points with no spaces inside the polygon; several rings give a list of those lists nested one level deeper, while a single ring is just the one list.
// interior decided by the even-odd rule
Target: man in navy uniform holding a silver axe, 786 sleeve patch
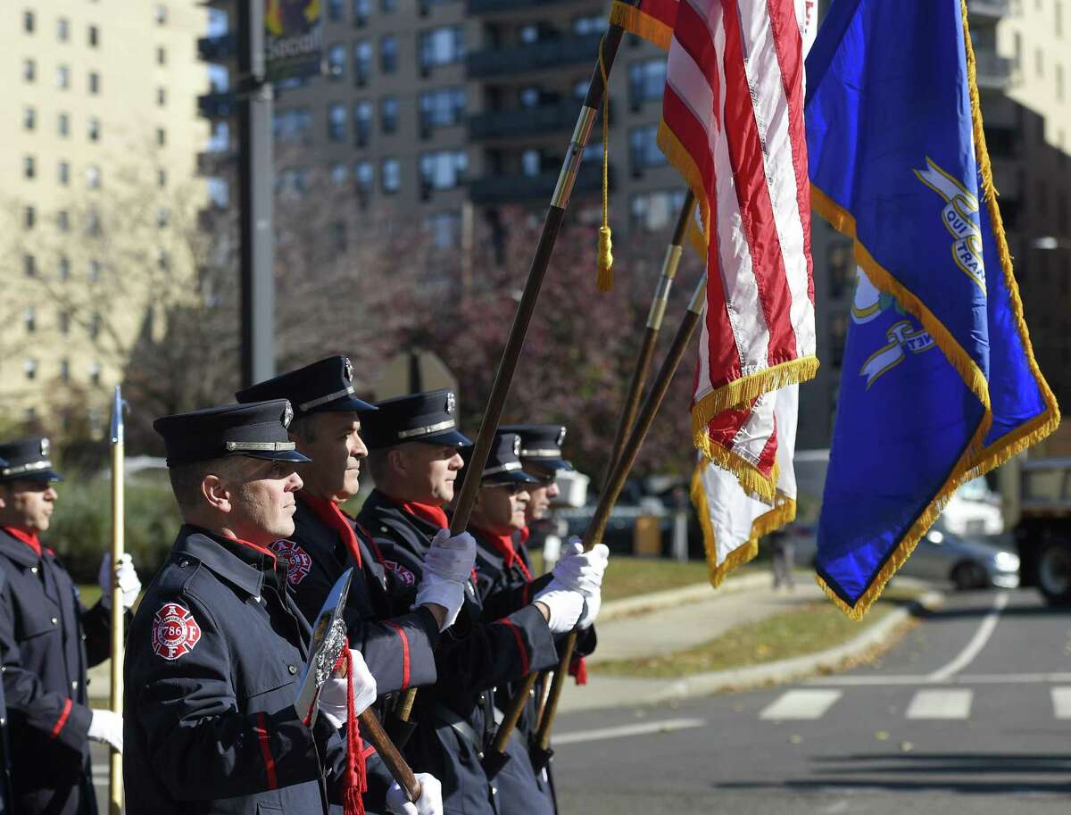
[{"label": "man in navy uniform holding a silver axe, 786 sleeve patch", "polygon": [[[295,465],[307,461],[287,437],[290,416],[277,399],[153,424],[183,526],[126,643],[131,815],[312,815],[341,801],[347,680],[325,682],[307,726],[295,701],[311,631],[268,548],[293,532]],[[375,679],[350,656],[360,712]]]}]

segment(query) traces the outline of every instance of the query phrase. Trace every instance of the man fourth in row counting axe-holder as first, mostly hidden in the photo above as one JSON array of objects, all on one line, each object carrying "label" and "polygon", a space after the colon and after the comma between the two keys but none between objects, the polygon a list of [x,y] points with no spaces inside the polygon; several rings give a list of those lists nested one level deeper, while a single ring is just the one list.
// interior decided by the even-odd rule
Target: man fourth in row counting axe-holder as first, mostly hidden
[{"label": "man fourth in row counting axe-holder as first, mostly hidden", "polygon": [[[555,436],[557,438],[557,431]],[[500,431],[496,434],[469,519],[469,531],[477,541],[477,586],[482,598],[531,585],[533,579],[531,561],[517,534],[526,528],[532,495],[540,494],[541,499],[546,500],[544,496],[547,487],[553,486],[553,481],[549,485],[546,483],[546,469],[532,468],[543,478],[537,478],[528,471],[529,468],[522,459],[525,453],[523,439],[516,433]],[[558,451],[560,457],[560,448]],[[541,448],[540,452],[546,454],[549,449]],[[472,476],[473,473],[469,473],[468,477]],[[605,559],[601,549],[590,555],[571,550],[555,567],[554,576],[560,583],[570,585],[585,595],[585,612],[579,620],[584,635],[577,642],[578,654],[590,653],[594,647],[591,623],[601,604],[600,587],[604,568]],[[583,580],[576,579],[579,575],[584,575]],[[538,683],[517,722],[516,738],[521,743],[529,742],[533,736],[536,700],[541,698],[542,690],[542,684]],[[499,710],[507,709],[516,692],[517,688],[513,683],[498,689],[495,701]],[[512,750],[510,755],[512,758],[507,768],[512,772],[503,770],[501,773],[503,791],[507,780],[512,774],[523,773],[526,786],[534,786],[545,798],[546,812],[555,812],[557,802],[547,769],[541,769],[537,773],[527,751]],[[531,808],[514,810],[510,805],[511,801],[512,798],[503,799],[503,813],[531,811]]]}]

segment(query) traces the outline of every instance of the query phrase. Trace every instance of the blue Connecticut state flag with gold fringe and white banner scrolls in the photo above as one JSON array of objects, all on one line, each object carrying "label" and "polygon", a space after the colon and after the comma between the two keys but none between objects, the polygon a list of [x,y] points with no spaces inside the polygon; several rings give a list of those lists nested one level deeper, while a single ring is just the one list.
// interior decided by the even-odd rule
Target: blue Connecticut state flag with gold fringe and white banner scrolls
[{"label": "blue Connecticut state flag with gold fringe and white banner scrolls", "polygon": [[812,201],[859,282],[818,583],[859,619],[965,481],[1051,433],[962,0],[834,0],[808,58]]}]

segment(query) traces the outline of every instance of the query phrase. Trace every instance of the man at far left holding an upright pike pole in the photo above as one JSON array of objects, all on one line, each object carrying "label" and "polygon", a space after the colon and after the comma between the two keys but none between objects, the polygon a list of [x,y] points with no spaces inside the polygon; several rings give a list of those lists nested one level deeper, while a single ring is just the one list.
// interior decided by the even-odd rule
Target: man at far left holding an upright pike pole
[{"label": "man at far left holding an upright pike pole", "polygon": [[[95,813],[89,741],[123,746],[122,716],[89,707],[86,671],[110,651],[111,578],[86,609],[74,580],[39,535],[48,530],[56,482],[46,438],[0,444],[0,660],[10,737],[12,808],[19,815]],[[123,607],[141,584],[130,556],[118,570]]]}]

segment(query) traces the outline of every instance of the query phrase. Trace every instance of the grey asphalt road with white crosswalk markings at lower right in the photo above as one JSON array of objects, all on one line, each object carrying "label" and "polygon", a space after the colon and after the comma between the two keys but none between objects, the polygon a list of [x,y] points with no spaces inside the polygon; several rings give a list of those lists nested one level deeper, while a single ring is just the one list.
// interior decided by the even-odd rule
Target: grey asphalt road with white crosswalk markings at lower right
[{"label": "grey asphalt road with white crosswalk markings at lower right", "polygon": [[1044,815],[1071,794],[1071,615],[951,595],[880,664],[560,720],[563,815]]}]

